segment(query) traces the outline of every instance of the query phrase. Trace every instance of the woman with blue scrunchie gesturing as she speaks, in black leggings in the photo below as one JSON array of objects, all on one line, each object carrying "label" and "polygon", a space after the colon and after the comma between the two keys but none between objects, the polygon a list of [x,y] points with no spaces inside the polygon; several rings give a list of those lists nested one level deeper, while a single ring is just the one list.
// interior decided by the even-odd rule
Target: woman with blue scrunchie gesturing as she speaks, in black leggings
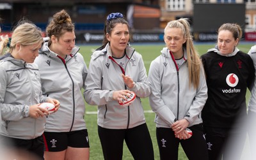
[{"label": "woman with blue scrunchie gesturing as she speaks, in black leggings", "polygon": [[[92,55],[84,97],[98,106],[98,133],[104,159],[122,159],[124,140],[134,159],[154,159],[152,141],[140,98],[151,89],[141,55],[128,45],[129,25],[122,13],[105,23],[104,43]],[[129,106],[118,102],[134,92]]]}]

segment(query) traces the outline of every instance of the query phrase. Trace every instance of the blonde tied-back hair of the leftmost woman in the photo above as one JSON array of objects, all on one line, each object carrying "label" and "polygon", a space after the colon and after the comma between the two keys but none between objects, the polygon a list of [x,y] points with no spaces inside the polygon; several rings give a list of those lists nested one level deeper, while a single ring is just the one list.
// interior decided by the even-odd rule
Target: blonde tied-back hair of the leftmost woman
[{"label": "blonde tied-back hair of the leftmost woman", "polygon": [[[4,40],[6,42],[6,40]],[[16,47],[17,43],[20,45],[34,45],[36,43],[42,43],[42,31],[39,27],[31,22],[20,21],[17,27],[13,30],[12,38],[9,38],[8,43],[10,43],[9,50],[6,52],[12,53],[12,50]],[[3,45],[3,48],[6,44]]]}]

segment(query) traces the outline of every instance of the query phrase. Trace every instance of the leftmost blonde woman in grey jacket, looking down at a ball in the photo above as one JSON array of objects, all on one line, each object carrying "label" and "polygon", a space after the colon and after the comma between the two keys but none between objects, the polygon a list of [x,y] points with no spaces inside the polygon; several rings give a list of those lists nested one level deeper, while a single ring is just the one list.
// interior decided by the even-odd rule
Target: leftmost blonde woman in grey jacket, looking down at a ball
[{"label": "leftmost blonde woman in grey jacket, looking down at a ball", "polygon": [[56,110],[60,106],[56,99],[42,96],[40,73],[33,64],[42,41],[38,27],[22,22],[13,31],[10,50],[0,59],[0,143],[8,142],[6,145],[27,150],[40,159],[44,159],[44,112],[48,112],[39,105],[53,103]]}]

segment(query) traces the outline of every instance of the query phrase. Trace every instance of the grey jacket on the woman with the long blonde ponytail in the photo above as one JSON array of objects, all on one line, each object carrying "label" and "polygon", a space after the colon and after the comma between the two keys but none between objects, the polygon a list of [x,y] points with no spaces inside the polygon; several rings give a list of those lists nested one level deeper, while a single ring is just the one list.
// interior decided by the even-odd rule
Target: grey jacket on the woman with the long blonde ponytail
[{"label": "grey jacket on the woman with the long blonde ponytail", "polygon": [[[187,59],[186,52],[184,59]],[[179,69],[168,48],[164,47],[150,64],[148,80],[152,85],[150,106],[156,113],[156,126],[168,127],[175,120],[187,119],[189,126],[202,123],[201,111],[207,100],[204,68],[201,66],[200,84],[197,89],[189,87],[187,61]]]}]

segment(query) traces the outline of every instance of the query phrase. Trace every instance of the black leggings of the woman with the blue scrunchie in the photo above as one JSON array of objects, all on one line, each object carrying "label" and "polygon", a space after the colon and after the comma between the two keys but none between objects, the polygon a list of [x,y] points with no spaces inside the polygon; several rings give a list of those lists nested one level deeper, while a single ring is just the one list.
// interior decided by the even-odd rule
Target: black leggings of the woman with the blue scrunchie
[{"label": "black leggings of the woman with the blue scrunchie", "polygon": [[122,159],[124,140],[134,159],[154,160],[147,124],[130,129],[106,129],[98,126],[98,133],[105,160]]}]

